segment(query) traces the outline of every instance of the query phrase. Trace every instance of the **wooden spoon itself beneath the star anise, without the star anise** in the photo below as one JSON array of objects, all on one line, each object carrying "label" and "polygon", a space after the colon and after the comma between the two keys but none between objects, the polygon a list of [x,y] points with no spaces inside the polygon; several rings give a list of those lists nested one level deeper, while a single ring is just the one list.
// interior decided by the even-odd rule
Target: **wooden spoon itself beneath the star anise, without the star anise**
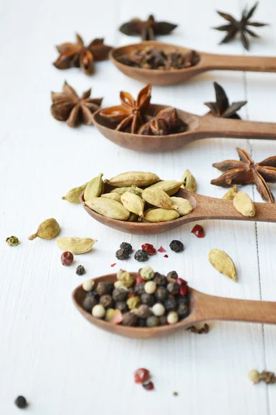
[{"label": "wooden spoon itself beneath the star anise, without the star anise", "polygon": [[[166,105],[151,104],[148,114],[155,116]],[[169,136],[142,136],[140,134],[116,131],[108,120],[101,117],[101,109],[94,113],[93,121],[97,129],[112,142],[137,151],[175,150],[201,138],[255,138],[257,140],[275,140],[276,123],[230,120],[206,114],[196,116],[177,109],[179,117],[188,124],[187,131]]]}]

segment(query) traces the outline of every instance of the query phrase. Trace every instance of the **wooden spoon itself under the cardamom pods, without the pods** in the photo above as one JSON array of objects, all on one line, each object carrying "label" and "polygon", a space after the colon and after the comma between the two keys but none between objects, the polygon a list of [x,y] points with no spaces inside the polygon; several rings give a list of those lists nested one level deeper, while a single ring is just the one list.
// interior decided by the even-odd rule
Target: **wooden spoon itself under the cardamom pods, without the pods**
[{"label": "wooden spoon itself under the cardamom pods, without the pods", "polygon": [[[105,185],[105,192],[110,192],[112,187]],[[83,192],[84,193],[84,192]],[[83,193],[81,194],[81,202],[84,202]],[[239,213],[233,205],[233,201],[224,199],[216,199],[213,197],[202,196],[201,194],[195,194],[187,192],[184,189],[180,189],[174,196],[183,197],[188,199],[193,206],[193,212],[186,216],[181,216],[173,221],[157,222],[157,223],[141,223],[141,222],[126,222],[118,221],[117,219],[110,219],[106,216],[102,216],[94,212],[94,210],[84,205],[83,208],[96,219],[96,221],[103,223],[103,225],[110,228],[120,230],[130,234],[137,235],[152,235],[160,234],[162,232],[168,232],[169,230],[179,228],[189,222],[197,222],[206,219],[224,219],[224,220],[236,220],[236,221],[251,221],[251,222],[276,222],[276,204],[275,203],[254,203],[256,214],[255,216],[243,216]]]}]

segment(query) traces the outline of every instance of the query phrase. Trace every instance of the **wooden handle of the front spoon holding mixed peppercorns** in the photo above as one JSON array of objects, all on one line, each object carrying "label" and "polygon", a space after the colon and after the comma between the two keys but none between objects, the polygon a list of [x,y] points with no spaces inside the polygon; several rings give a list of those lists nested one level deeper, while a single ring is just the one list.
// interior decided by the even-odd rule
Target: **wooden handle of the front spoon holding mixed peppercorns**
[{"label": "wooden handle of the front spoon holding mixed peppercorns", "polygon": [[276,302],[232,299],[213,295],[202,295],[199,302],[202,320],[276,324]]}]

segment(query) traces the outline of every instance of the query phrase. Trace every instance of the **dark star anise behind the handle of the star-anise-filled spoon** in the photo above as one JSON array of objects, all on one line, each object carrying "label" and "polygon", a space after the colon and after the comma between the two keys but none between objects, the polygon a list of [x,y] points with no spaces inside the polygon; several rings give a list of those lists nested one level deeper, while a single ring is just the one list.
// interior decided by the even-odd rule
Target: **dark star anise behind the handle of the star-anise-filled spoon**
[{"label": "dark star anise behind the handle of the star-anise-filled spoon", "polygon": [[236,118],[240,120],[240,116],[237,114],[237,111],[244,107],[247,101],[238,101],[233,102],[229,105],[227,95],[221,85],[214,82],[216,102],[204,102],[204,105],[207,105],[210,108],[210,112],[216,117],[221,118]]}]

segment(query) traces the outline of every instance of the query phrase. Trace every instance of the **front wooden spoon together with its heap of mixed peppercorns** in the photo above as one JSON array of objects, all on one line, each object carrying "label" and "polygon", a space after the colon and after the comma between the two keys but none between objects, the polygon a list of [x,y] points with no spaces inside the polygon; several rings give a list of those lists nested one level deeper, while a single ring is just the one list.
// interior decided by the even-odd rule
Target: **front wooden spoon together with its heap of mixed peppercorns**
[{"label": "front wooden spoon together with its heap of mixed peppercorns", "polygon": [[207,295],[188,287],[175,271],[165,276],[150,266],[90,279],[72,299],[90,323],[136,339],[158,338],[206,320],[276,324],[276,302]]}]

